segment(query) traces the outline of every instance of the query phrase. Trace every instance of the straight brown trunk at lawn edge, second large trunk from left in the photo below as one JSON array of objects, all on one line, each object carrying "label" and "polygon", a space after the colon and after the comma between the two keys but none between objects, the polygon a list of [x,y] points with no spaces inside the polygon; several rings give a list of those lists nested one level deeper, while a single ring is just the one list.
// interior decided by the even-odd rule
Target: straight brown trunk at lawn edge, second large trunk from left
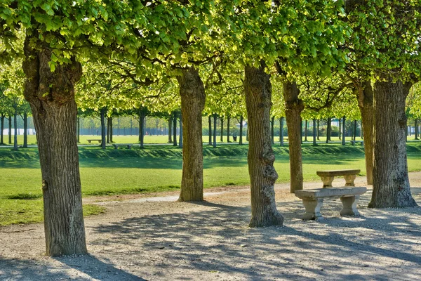
[{"label": "straight brown trunk at lawn edge, second large trunk from left", "polygon": [[183,120],[182,180],[179,201],[203,201],[202,111],[205,89],[199,70],[189,67],[177,77]]}]

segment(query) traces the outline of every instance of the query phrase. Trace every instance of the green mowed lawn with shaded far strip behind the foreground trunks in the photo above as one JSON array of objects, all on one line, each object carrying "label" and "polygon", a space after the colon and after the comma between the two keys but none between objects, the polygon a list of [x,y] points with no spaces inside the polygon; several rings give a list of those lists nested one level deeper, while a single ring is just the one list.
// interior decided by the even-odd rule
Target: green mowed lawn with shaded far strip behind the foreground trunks
[{"label": "green mowed lawn with shaded far strip behind the foreground trunks", "polygon": [[[247,145],[203,146],[204,185],[248,185]],[[365,175],[363,147],[323,144],[303,145],[305,181],[319,181],[316,171],[361,169]],[[278,183],[289,181],[288,147],[274,146]],[[178,190],[182,175],[182,150],[171,145],[144,150],[98,147],[79,148],[83,196]],[[410,171],[421,170],[421,143],[408,143]],[[0,149],[0,226],[42,221],[41,171],[36,148],[13,152]],[[102,208],[84,206],[86,215]]]}]

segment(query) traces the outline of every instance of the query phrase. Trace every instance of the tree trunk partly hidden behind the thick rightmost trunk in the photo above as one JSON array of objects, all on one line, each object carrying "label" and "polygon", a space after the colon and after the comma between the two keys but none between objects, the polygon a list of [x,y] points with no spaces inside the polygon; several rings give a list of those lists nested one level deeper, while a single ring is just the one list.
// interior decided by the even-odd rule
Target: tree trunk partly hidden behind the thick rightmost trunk
[{"label": "tree trunk partly hidden behind the thick rightmost trunk", "polygon": [[366,157],[367,184],[373,184],[374,93],[370,81],[364,81],[358,91],[358,105],[363,124],[364,155]]}]

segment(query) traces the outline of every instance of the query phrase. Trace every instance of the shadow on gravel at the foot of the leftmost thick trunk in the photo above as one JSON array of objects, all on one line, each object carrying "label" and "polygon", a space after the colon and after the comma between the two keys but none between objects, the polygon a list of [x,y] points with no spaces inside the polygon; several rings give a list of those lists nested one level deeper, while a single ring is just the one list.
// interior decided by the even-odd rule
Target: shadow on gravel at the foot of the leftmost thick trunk
[{"label": "shadow on gravel at the foot of the leftmost thick trunk", "polygon": [[30,259],[0,258],[0,280],[145,280],[115,268],[111,263],[104,263],[94,256],[45,259],[53,259],[55,264]]}]

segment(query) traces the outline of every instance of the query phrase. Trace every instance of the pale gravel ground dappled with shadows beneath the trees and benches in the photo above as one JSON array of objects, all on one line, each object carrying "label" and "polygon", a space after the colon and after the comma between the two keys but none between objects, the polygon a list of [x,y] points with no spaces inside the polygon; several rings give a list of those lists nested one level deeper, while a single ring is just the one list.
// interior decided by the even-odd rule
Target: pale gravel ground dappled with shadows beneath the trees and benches
[{"label": "pale gravel ground dappled with shadows beneath the trees and benches", "polygon": [[[421,173],[410,181],[421,204]],[[304,207],[288,189],[276,185],[285,226],[270,228],[247,227],[241,187],[206,190],[200,204],[173,202],[173,192],[89,198],[107,208],[86,218],[90,255],[48,258],[42,224],[1,227],[0,280],[421,279],[421,208],[367,209],[369,191],[361,218],[341,218],[340,200],[326,200],[325,220],[302,221]]]}]

